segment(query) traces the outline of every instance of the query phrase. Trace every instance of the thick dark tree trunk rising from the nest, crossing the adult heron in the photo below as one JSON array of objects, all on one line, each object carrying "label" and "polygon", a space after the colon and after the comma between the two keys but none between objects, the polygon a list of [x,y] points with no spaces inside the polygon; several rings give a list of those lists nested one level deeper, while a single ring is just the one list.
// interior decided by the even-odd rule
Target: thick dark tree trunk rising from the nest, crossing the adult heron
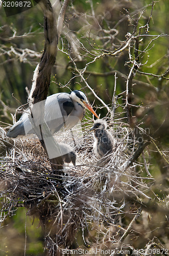
[{"label": "thick dark tree trunk rising from the nest, crossing the adult heron", "polygon": [[[41,1],[40,6],[44,12],[45,46],[40,63],[34,73],[32,89],[28,102],[31,110],[31,117],[33,118],[33,129],[40,139],[42,146],[45,148],[46,153],[48,153],[44,141],[47,138],[50,139],[50,144],[53,150],[56,152],[59,150],[58,144],[54,140],[54,137],[52,137],[44,120],[45,99],[50,85],[51,69],[57,56],[58,39],[55,18],[49,0]],[[38,105],[36,103],[38,103]],[[39,128],[37,124],[39,124]],[[63,164],[62,157],[52,158],[50,161],[52,167],[56,170],[61,168]]]}]

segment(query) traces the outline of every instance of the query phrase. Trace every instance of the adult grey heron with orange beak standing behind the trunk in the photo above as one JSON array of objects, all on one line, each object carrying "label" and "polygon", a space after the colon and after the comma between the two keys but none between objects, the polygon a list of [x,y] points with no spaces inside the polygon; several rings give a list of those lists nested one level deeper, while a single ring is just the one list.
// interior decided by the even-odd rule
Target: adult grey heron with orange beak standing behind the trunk
[{"label": "adult grey heron with orange beak standing behind the trunk", "polygon": [[[86,109],[98,118],[83,92],[75,90],[70,93],[57,93],[46,98],[44,119],[53,135],[62,127],[68,130],[75,126],[85,116]],[[29,110],[23,113],[7,132],[8,137],[17,138],[34,134],[29,113]]]}]

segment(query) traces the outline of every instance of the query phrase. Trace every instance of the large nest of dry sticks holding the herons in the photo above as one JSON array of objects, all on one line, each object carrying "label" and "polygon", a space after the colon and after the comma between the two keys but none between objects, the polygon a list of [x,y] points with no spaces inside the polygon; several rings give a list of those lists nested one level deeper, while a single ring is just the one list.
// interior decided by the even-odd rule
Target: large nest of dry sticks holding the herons
[{"label": "large nest of dry sticks holding the herons", "polygon": [[79,228],[84,230],[91,223],[118,225],[124,214],[136,214],[143,200],[150,199],[147,193],[152,179],[144,177],[141,163],[125,168],[138,146],[129,127],[119,121],[107,120],[107,124],[117,146],[102,159],[94,155],[93,135],[88,133],[93,120],[83,121],[73,133],[55,135],[57,142],[71,145],[77,154],[75,166],[64,165],[64,175],[53,174],[38,139],[11,140],[4,132],[1,222],[24,206],[27,215],[38,216],[45,227],[48,248],[68,248]]}]

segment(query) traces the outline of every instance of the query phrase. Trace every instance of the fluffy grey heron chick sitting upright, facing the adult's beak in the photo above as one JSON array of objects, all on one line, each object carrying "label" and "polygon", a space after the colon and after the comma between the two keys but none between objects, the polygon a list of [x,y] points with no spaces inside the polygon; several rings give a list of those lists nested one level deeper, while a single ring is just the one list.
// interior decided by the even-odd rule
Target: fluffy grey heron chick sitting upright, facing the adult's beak
[{"label": "fluffy grey heron chick sitting upright, facing the adult's beak", "polygon": [[94,144],[93,150],[98,158],[111,153],[116,144],[114,137],[106,130],[106,121],[99,119],[94,122],[94,126],[89,130],[89,132],[94,131]]}]

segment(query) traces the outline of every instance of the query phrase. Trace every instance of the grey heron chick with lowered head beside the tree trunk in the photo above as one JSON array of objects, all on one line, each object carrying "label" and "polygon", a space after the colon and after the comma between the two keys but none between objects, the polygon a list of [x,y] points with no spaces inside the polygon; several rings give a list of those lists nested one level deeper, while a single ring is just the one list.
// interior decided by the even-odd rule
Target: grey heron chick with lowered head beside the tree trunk
[{"label": "grey heron chick with lowered head beside the tree trunk", "polygon": [[65,143],[58,143],[60,147],[60,151],[62,153],[63,161],[66,163],[72,162],[73,165],[76,164],[76,154],[74,153],[71,146],[65,144]]}]

